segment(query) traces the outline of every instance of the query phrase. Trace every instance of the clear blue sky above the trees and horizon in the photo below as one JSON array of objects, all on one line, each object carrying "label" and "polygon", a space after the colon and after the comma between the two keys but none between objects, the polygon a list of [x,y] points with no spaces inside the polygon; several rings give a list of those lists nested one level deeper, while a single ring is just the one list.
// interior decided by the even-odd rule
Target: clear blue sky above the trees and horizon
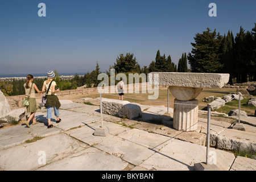
[{"label": "clear blue sky above the trees and horizon", "polygon": [[[46,17],[38,16],[39,3]],[[143,67],[158,49],[177,64],[207,27],[236,36],[254,23],[255,0],[0,0],[0,74],[86,73],[97,61],[105,72],[127,52]]]}]

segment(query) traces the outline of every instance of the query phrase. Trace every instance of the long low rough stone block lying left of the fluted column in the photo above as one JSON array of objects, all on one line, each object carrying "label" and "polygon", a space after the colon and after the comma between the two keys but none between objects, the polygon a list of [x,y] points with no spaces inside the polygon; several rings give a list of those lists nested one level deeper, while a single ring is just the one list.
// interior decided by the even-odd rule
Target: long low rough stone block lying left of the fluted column
[{"label": "long low rough stone block lying left of the fluted column", "polygon": [[129,101],[121,101],[104,98],[102,99],[102,113],[116,115],[117,117],[127,117],[129,119],[142,116],[141,107],[131,104]]}]

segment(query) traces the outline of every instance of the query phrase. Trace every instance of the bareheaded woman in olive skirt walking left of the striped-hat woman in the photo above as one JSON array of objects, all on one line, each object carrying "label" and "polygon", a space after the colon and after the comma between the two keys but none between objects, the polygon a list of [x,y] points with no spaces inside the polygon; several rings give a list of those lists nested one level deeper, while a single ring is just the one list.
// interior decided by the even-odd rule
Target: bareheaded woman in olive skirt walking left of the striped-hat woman
[{"label": "bareheaded woman in olive skirt walking left of the striped-hat woman", "polygon": [[38,123],[38,122],[35,121],[35,113],[36,113],[35,90],[38,93],[42,93],[42,91],[40,91],[38,89],[36,84],[32,83],[33,80],[34,80],[34,76],[27,75],[27,80],[26,80],[26,83],[24,84],[26,97],[28,97],[28,94],[30,92],[30,88],[32,86],[31,93],[30,93],[30,98],[29,98],[30,105],[27,106],[27,113],[30,113],[30,117],[28,117],[27,121],[25,122],[27,127],[30,127],[29,123],[30,123],[31,119],[33,121],[32,125],[35,125],[36,123]]}]

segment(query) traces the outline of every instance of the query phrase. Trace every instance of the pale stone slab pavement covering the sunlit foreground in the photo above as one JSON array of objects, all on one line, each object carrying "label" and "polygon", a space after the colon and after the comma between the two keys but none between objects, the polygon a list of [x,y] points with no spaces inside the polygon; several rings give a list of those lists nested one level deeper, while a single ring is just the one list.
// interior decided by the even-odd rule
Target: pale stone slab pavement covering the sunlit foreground
[{"label": "pale stone slab pavement covering the sunlit foreground", "polygon": [[[163,115],[164,106],[140,105],[143,113],[138,120],[103,114],[110,133],[100,137],[93,134],[101,125],[99,106],[64,100],[61,104],[62,121],[52,119],[51,129],[47,129],[46,109],[38,109],[38,124],[0,130],[0,170],[187,171],[205,162],[205,134],[172,129],[170,117]],[[158,117],[165,125],[148,122]],[[203,131],[205,123],[200,123]],[[225,125],[213,121],[214,132],[229,127]],[[42,139],[28,143],[35,137]],[[254,159],[216,148],[210,151],[216,154],[220,170],[256,170]]]}]

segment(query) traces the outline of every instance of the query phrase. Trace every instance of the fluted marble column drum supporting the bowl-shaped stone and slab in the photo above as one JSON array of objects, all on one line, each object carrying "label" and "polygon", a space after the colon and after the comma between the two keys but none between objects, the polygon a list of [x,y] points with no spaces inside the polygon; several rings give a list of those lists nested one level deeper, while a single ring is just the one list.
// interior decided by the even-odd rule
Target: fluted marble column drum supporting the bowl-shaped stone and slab
[{"label": "fluted marble column drum supporting the bowl-shaped stone and slab", "polygon": [[198,122],[198,100],[174,100],[174,129],[194,131]]}]

